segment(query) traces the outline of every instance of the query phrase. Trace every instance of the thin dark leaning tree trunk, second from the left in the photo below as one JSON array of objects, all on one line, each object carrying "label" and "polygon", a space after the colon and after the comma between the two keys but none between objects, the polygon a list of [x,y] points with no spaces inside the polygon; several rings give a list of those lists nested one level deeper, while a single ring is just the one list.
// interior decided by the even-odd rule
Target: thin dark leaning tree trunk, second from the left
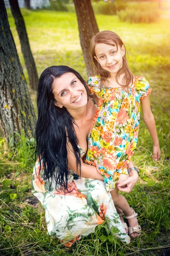
[{"label": "thin dark leaning tree trunk, second from the left", "polygon": [[32,56],[32,52],[30,49],[24,19],[20,12],[20,7],[18,5],[18,1],[17,0],[9,0],[9,3],[11,6],[12,15],[14,16],[15,24],[17,27],[17,32],[18,32],[18,35],[20,38],[21,49],[23,52],[26,68],[28,71],[29,84],[30,84],[31,89],[37,90],[38,75],[37,75],[34,58]]}]

